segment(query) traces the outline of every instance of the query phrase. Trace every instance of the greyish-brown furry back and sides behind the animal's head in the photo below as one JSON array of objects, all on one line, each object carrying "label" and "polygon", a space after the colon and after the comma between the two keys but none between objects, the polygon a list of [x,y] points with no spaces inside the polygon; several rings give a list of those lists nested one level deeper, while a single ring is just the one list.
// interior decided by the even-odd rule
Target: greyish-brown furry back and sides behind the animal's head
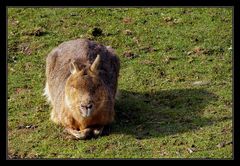
[{"label": "greyish-brown furry back and sides behind the animal's head", "polygon": [[115,97],[120,62],[111,48],[86,39],[64,42],[54,48],[46,60],[46,76],[51,102],[58,109],[64,97],[64,87],[70,76],[70,63],[76,61],[79,68],[90,66],[100,55],[100,77]]}]

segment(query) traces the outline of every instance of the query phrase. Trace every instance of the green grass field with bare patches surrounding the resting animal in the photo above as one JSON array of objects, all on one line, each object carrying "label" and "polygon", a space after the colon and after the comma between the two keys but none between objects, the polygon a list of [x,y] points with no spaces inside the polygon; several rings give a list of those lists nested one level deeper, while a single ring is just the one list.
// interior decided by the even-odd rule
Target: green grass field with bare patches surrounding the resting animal
[{"label": "green grass field with bare patches surrounding the resting animal", "polygon": [[[121,60],[116,120],[97,139],[71,139],[42,96],[47,54],[77,38]],[[232,158],[230,47],[231,8],[9,8],[8,156]]]}]

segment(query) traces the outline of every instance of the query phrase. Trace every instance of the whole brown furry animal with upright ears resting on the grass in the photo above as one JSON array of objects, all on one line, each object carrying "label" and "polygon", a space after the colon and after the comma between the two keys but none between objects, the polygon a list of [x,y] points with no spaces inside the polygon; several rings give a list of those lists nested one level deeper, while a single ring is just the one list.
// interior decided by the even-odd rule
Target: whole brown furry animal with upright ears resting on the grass
[{"label": "whole brown furry animal with upright ears resting on the grass", "polygon": [[[93,41],[77,39],[54,48],[46,59],[45,94],[53,107],[51,120],[78,138],[86,138],[91,130],[101,134],[114,120],[119,69],[113,49]],[[84,112],[88,103],[93,105],[86,109],[90,115]]]}]

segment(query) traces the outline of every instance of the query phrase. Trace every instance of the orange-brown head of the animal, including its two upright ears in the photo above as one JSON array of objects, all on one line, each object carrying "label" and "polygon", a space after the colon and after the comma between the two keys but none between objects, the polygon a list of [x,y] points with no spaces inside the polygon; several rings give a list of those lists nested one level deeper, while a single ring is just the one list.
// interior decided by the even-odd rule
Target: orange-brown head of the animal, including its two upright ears
[{"label": "orange-brown head of the animal, including its two upright ears", "polygon": [[91,117],[105,100],[107,94],[99,77],[100,55],[91,66],[79,69],[76,62],[70,64],[70,72],[65,86],[65,104],[75,114],[83,118]]}]

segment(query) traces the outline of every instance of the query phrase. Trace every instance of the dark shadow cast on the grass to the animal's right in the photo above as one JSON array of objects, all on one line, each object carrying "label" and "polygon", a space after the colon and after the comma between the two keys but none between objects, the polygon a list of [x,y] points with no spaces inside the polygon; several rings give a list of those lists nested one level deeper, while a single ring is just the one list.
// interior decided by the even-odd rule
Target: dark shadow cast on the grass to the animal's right
[{"label": "dark shadow cast on the grass to the animal's right", "polygon": [[111,133],[137,139],[174,135],[213,123],[202,117],[203,109],[217,96],[204,89],[174,89],[152,93],[120,90],[116,120]]}]

